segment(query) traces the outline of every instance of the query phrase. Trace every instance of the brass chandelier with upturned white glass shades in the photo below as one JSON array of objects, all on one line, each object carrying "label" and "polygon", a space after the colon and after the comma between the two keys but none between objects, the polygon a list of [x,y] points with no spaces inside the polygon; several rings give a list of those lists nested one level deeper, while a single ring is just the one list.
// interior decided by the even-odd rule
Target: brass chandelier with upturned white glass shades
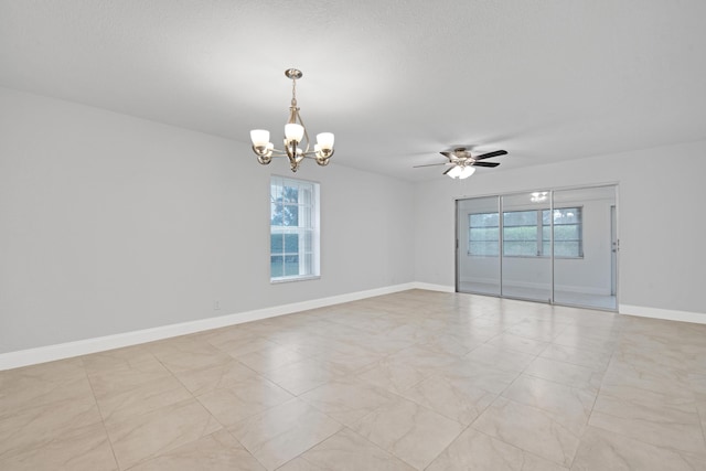
[{"label": "brass chandelier with upturned white glass shades", "polygon": [[[319,165],[328,165],[329,159],[333,156],[333,133],[321,132],[317,135],[317,143],[313,150],[309,150],[309,135],[304,127],[301,116],[299,116],[299,107],[297,106],[297,79],[303,75],[301,71],[288,68],[285,75],[291,78],[291,105],[289,106],[289,120],[285,125],[285,150],[275,149],[275,144],[269,141],[269,131],[265,129],[253,129],[250,131],[250,140],[253,141],[253,151],[257,156],[257,161],[263,165],[267,165],[272,161],[274,157],[287,157],[289,167],[292,172],[299,169],[299,163],[304,158],[311,158]],[[302,140],[306,146],[302,149],[300,144]]]}]

